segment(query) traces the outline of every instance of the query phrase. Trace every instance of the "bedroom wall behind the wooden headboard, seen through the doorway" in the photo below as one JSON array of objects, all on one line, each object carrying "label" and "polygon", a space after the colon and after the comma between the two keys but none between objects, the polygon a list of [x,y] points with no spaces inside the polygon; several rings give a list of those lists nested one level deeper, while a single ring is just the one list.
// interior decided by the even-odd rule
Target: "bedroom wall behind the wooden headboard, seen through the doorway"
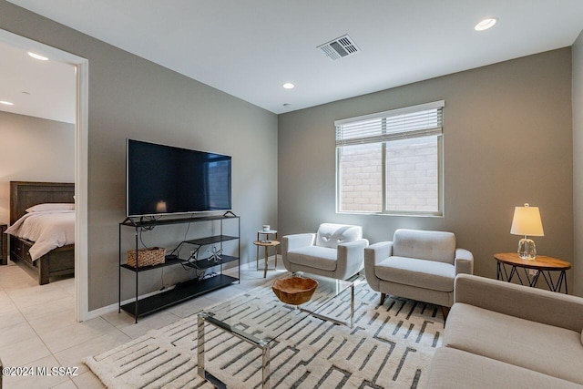
[{"label": "bedroom wall behind the wooden headboard, seen through the doorway", "polygon": [[75,126],[0,111],[0,221],[10,220],[10,181],[73,182]]}]

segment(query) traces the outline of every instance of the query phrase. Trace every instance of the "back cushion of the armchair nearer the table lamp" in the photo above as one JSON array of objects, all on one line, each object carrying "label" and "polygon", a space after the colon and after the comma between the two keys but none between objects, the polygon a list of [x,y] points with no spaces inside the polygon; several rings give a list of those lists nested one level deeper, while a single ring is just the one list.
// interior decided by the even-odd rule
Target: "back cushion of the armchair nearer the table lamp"
[{"label": "back cushion of the armchair nearer the table lamp", "polygon": [[455,235],[445,231],[396,230],[393,255],[454,264]]}]

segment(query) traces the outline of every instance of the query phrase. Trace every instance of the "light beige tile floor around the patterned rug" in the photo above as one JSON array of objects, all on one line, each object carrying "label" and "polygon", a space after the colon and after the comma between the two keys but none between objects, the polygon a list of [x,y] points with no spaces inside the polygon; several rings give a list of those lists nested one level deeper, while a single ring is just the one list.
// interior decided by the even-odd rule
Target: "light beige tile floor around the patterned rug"
[{"label": "light beige tile floor around the patterned rug", "polygon": [[[262,264],[262,261],[261,261]],[[271,261],[270,266],[273,266]],[[26,270],[8,261],[0,266],[0,359],[4,366],[33,368],[77,367],[77,375],[4,376],[3,388],[103,388],[81,360],[135,339],[151,329],[199,312],[270,281],[285,272],[256,270],[243,264],[240,283],[183,302],[134,323],[126,312],[111,312],[87,322],[75,321],[75,283],[68,278],[40,286]],[[30,372],[30,370],[28,371]]]}]

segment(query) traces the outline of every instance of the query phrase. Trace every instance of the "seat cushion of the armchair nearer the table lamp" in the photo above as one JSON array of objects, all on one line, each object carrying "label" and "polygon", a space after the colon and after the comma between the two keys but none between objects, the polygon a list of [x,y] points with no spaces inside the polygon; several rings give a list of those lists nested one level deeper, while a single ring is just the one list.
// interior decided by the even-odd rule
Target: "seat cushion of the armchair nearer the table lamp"
[{"label": "seat cushion of the armchair nearer the table lamp", "polygon": [[374,266],[378,278],[440,292],[454,290],[455,267],[439,261],[389,257]]}]

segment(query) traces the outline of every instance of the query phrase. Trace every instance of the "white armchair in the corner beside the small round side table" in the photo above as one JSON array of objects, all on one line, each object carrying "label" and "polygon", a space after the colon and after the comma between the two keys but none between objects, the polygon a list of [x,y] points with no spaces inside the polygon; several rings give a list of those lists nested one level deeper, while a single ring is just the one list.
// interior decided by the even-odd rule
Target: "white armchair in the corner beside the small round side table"
[{"label": "white armchair in the corner beside the small round side table", "polygon": [[317,233],[284,236],[281,254],[288,271],[345,280],[363,269],[366,246],[360,226],[323,223]]}]

